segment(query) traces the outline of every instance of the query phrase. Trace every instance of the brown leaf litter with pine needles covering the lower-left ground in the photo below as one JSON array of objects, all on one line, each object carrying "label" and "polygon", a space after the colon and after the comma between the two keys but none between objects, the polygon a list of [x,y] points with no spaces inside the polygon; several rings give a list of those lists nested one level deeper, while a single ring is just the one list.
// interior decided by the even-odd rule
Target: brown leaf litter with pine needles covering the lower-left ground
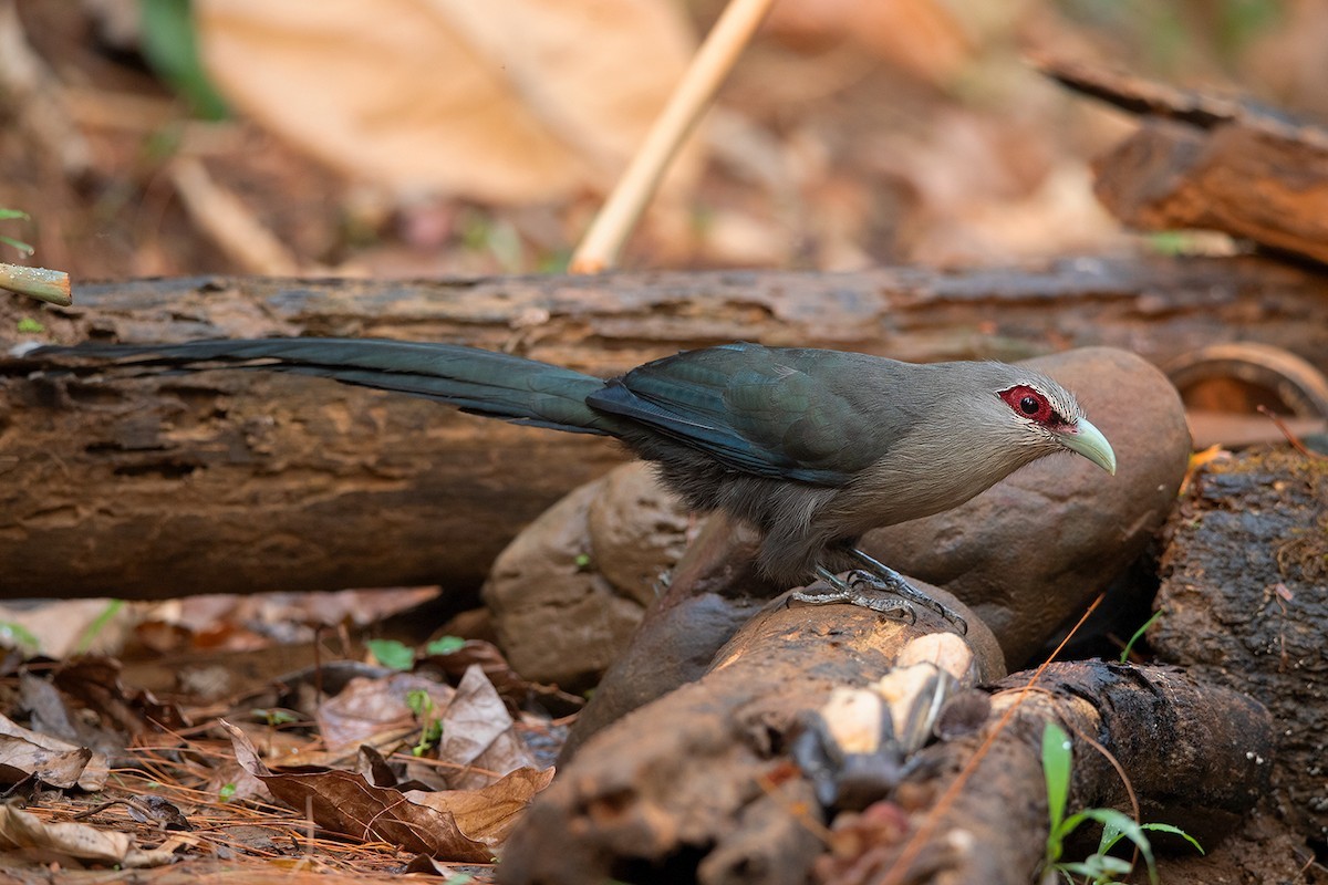
[{"label": "brown leaf litter with pine needles covering the lower-left ground", "polygon": [[127,687],[113,658],[11,657],[7,707],[32,727],[0,716],[0,865],[487,881],[554,775],[531,746],[559,726],[521,705],[576,699],[521,682],[487,642],[445,647],[412,671],[327,662],[321,693],[292,690],[301,671],[259,698],[291,707],[252,695],[191,707]]}]

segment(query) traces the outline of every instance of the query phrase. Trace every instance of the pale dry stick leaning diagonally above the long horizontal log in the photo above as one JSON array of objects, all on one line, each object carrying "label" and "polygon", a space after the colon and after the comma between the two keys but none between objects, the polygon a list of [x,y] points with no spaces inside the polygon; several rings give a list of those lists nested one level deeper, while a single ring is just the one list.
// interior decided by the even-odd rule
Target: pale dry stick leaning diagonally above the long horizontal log
[{"label": "pale dry stick leaning diagonally above the long horizontal log", "polygon": [[618,263],[627,235],[636,227],[679,145],[701,118],[773,4],[774,0],[732,0],[725,7],[572,253],[567,268],[571,273],[599,273]]}]

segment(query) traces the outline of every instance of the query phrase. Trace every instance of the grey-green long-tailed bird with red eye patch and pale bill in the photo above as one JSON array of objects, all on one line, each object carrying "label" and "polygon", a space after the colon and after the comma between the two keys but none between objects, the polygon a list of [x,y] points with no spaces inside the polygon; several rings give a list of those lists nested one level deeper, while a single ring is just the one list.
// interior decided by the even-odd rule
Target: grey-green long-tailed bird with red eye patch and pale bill
[{"label": "grey-green long-tailed bird with red eye patch and pale bill", "polygon": [[1069,390],[995,361],[914,364],[738,342],[606,379],[511,353],[386,338],[84,342],[23,356],[112,361],[141,373],[316,375],[518,425],[614,437],[653,462],[692,511],[753,525],[757,569],[777,586],[819,577],[843,594],[837,575],[865,565],[876,584],[947,617],[954,613],[862,552],[862,535],[952,510],[1056,452],[1116,474],[1110,443]]}]

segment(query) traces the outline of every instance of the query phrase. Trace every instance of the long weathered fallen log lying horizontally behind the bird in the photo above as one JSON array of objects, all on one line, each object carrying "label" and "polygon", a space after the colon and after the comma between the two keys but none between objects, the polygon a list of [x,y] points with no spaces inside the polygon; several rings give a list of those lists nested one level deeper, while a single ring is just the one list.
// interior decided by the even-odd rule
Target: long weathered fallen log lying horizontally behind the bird
[{"label": "long weathered fallen log lying horizontally behind the bird", "polygon": [[[736,338],[910,360],[1089,344],[1154,362],[1260,340],[1328,368],[1328,281],[1259,260],[938,273],[623,273],[84,285],[49,340],[344,334],[511,349],[598,374]],[[1066,309],[1073,308],[1073,309]],[[19,308],[0,300],[0,344]],[[513,535],[619,463],[599,439],[309,378],[29,377],[0,360],[0,596],[474,588]]]}]

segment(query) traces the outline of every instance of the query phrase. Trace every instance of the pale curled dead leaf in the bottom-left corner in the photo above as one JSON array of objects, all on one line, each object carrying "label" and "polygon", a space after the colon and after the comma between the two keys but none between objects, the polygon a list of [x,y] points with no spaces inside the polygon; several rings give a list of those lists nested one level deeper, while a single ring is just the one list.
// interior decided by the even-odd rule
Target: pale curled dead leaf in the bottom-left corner
[{"label": "pale curled dead leaf in the bottom-left corner", "polygon": [[175,849],[181,844],[169,841],[161,848],[145,851],[129,833],[73,821],[46,823],[31,812],[0,805],[0,849],[25,849],[42,862],[73,857],[124,868],[161,866],[175,860]]}]

